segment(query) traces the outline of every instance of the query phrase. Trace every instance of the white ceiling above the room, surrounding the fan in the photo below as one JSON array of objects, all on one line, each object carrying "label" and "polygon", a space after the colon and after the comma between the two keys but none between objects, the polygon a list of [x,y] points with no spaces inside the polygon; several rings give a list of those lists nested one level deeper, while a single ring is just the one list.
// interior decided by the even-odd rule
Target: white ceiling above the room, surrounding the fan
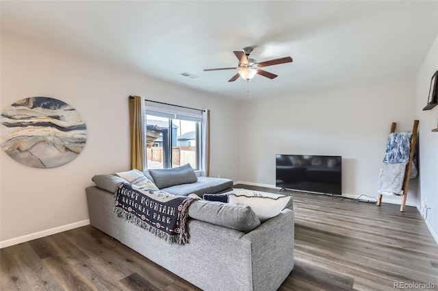
[{"label": "white ceiling above the room, surrounding the fan", "polygon": [[[414,77],[438,34],[438,1],[1,1],[1,31],[237,99]],[[257,46],[279,75],[228,80]],[[188,72],[196,79],[183,77]]]}]

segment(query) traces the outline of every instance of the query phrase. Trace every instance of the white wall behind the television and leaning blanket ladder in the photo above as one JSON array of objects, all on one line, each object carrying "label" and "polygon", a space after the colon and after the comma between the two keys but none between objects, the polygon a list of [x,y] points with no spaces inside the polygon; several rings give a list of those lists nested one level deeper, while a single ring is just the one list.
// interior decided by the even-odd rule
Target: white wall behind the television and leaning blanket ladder
[{"label": "white wall behind the television and leaning blanket ladder", "polygon": [[[272,89],[274,90],[274,88]],[[411,131],[415,77],[240,103],[240,179],[275,184],[275,154],[342,155],[342,192],[377,197],[391,123]],[[256,166],[257,165],[257,166]],[[412,180],[408,205],[417,205]],[[400,203],[398,197],[383,202]]]}]

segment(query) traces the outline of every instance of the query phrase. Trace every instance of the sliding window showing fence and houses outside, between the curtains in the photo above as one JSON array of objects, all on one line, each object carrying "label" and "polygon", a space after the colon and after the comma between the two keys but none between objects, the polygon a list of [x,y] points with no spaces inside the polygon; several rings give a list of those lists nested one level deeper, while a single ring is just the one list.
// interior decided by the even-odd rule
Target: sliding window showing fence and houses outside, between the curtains
[{"label": "sliding window showing fence and houses outside, between the curtains", "polygon": [[[177,110],[175,110],[175,108]],[[146,168],[175,168],[190,164],[205,173],[207,140],[201,110],[146,103]]]}]

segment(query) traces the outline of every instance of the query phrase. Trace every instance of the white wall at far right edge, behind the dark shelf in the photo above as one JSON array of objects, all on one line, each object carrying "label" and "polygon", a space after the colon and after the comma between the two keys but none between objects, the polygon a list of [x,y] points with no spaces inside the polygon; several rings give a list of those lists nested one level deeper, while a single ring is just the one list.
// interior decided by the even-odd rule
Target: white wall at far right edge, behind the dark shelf
[{"label": "white wall at far right edge, behind the dark shelf", "polygon": [[[438,70],[438,36],[417,74],[417,118],[420,123],[420,201],[428,210],[426,223],[438,242],[438,106],[423,111],[429,94],[430,79]],[[420,212],[426,216],[426,207],[420,204]]]}]

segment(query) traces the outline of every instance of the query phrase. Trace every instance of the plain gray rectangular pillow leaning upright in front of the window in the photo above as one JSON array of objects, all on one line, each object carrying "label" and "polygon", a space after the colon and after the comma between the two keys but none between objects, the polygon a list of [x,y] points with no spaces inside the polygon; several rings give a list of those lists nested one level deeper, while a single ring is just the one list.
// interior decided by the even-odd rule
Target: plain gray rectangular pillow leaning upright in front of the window
[{"label": "plain gray rectangular pillow leaning upright in front of the window", "polygon": [[159,189],[198,181],[198,177],[196,177],[196,173],[194,173],[190,164],[185,164],[177,168],[149,169],[149,173],[151,173],[155,185],[157,185]]}]

